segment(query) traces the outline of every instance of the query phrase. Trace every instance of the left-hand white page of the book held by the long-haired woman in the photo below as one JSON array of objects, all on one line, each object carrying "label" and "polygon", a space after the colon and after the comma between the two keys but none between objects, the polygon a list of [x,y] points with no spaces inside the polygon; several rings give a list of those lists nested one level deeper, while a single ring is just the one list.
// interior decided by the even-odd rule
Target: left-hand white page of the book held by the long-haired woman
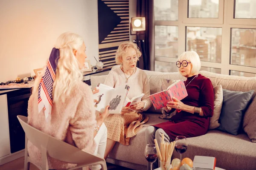
[{"label": "left-hand white page of the book held by the long-haired woman", "polygon": [[97,87],[97,89],[99,89],[99,92],[93,94],[93,99],[96,99],[98,101],[95,103],[94,107],[96,111],[104,112],[106,106],[110,101],[111,93],[113,93],[115,89],[104,84],[100,84],[99,87]]}]

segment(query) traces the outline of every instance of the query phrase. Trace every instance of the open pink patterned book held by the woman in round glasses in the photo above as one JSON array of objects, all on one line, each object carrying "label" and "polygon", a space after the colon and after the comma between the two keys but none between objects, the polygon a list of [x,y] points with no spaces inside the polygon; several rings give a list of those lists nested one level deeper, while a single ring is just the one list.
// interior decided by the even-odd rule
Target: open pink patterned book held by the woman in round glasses
[{"label": "open pink patterned book held by the woman in round glasses", "polygon": [[172,97],[178,100],[184,99],[188,96],[186,87],[182,80],[179,80],[172,85],[170,85],[166,90],[160,91],[149,96],[155,109],[160,109],[166,107],[167,102],[173,101]]}]

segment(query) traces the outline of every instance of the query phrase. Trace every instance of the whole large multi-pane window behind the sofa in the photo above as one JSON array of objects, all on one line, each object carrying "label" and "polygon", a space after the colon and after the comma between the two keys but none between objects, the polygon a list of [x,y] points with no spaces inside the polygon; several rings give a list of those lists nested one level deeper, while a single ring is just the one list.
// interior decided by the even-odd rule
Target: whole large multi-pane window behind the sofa
[{"label": "whole large multi-pane window behind the sofa", "polygon": [[201,70],[254,77],[255,7],[256,0],[154,0],[155,71],[176,72],[177,57],[196,51]]}]

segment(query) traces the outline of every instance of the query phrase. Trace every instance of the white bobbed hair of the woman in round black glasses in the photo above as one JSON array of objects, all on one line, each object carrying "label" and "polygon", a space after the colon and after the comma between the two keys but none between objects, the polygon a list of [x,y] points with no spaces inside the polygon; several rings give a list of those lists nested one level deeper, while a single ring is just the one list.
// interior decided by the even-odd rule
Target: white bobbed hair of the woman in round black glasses
[{"label": "white bobbed hair of the woman in round black glasses", "polygon": [[199,70],[201,69],[201,61],[198,56],[198,54],[195,51],[185,51],[183,52],[179,57],[178,61],[182,62],[183,60],[186,60],[188,62],[191,62],[192,69],[190,74],[198,74]]}]

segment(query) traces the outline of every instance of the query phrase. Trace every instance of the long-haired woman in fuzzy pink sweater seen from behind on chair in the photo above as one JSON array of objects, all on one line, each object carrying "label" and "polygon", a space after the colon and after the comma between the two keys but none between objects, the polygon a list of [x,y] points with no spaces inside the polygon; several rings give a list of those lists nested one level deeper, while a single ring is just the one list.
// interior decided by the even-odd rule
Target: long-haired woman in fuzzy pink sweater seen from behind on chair
[{"label": "long-haired woman in fuzzy pink sweater seen from behind on chair", "polygon": [[[105,153],[107,128],[104,120],[108,106],[96,117],[93,93],[82,82],[86,46],[83,38],[66,32],[52,49],[44,74],[37,77],[29,98],[28,123],[61,141],[92,154]],[[29,156],[41,164],[41,151],[28,142]],[[49,169],[63,170],[76,166],[48,158]],[[100,165],[90,169],[99,170]]]}]

